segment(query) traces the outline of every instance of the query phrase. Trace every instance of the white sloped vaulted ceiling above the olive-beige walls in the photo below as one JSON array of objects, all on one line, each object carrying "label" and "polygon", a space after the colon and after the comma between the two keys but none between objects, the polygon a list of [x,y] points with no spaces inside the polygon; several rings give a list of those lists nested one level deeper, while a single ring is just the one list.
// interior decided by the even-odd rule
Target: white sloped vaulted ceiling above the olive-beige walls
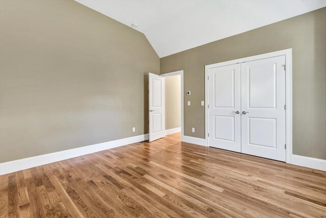
[{"label": "white sloped vaulted ceiling above the olive-beige walls", "polygon": [[127,26],[137,23],[159,57],[326,6],[326,0],[75,1]]}]

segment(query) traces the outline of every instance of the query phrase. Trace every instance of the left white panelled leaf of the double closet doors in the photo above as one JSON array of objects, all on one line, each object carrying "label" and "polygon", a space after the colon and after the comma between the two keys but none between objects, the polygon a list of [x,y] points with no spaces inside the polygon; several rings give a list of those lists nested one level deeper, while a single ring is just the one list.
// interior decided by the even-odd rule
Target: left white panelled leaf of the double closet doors
[{"label": "left white panelled leaf of the double closet doors", "polygon": [[241,152],[240,64],[210,68],[209,146]]}]

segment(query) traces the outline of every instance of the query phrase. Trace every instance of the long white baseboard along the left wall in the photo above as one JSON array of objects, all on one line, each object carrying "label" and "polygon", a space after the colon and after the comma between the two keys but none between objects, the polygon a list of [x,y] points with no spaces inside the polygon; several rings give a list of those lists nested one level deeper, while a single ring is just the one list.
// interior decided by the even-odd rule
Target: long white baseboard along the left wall
[{"label": "long white baseboard along the left wall", "polygon": [[132,136],[129,138],[117,139],[114,141],[107,141],[98,144],[92,144],[91,146],[85,146],[75,149],[69,149],[60,152],[54,152],[50,154],[44,154],[34,157],[23,158],[19,160],[8,161],[0,163],[0,175],[9,174],[22,169],[28,169],[35,166],[40,166],[48,163],[57,162],[60,160],[66,160],[73,157],[78,157],[94,152],[99,152],[107,149],[116,148],[119,146],[125,146],[135,142],[140,142],[148,139],[148,134]]}]

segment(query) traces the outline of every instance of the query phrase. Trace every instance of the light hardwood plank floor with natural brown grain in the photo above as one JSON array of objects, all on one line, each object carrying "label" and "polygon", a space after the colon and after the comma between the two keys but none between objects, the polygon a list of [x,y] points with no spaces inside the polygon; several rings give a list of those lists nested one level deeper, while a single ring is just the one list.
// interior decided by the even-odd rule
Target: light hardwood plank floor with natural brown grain
[{"label": "light hardwood plank floor with natural brown grain", "polygon": [[0,176],[0,217],[326,217],[326,172],[180,134]]}]

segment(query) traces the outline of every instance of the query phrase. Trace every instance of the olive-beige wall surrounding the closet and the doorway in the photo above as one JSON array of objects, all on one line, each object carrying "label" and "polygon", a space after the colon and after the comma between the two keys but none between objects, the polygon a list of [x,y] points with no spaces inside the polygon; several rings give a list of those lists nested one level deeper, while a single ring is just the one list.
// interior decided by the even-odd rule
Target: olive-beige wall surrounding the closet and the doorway
[{"label": "olive-beige wall surrounding the closet and the doorway", "polygon": [[161,74],[184,70],[184,103],[198,102],[184,107],[184,134],[205,137],[205,65],[289,48],[293,153],[326,159],[326,8],[161,58]]}]

